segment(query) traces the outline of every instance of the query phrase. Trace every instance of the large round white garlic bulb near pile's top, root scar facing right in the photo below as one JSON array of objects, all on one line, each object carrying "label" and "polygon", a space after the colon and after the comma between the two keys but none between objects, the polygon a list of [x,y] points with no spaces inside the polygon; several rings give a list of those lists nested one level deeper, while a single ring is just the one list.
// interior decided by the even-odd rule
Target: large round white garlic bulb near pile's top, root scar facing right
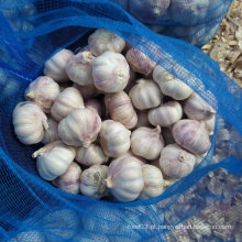
[{"label": "large round white garlic bulb near pile's top, root scar facing right", "polygon": [[92,78],[96,88],[105,92],[118,92],[130,79],[130,66],[123,55],[106,52],[92,62]]}]

